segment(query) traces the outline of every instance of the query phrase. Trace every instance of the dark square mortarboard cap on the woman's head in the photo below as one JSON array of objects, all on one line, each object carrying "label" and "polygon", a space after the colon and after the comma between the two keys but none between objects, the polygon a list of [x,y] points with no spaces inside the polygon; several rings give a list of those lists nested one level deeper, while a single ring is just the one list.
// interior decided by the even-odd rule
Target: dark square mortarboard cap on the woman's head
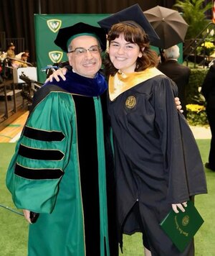
[{"label": "dark square mortarboard cap on the woman's head", "polygon": [[113,24],[126,21],[133,21],[139,24],[140,27],[142,27],[145,33],[148,35],[148,38],[151,41],[151,45],[156,46],[156,42],[158,42],[160,38],[156,34],[156,31],[153,29],[151,24],[148,22],[148,19],[146,19],[142,9],[140,9],[138,4],[134,4],[133,6],[123,9],[116,14],[112,14],[110,17],[102,19],[97,23],[100,24],[100,27],[106,29],[106,32],[108,32]]}]

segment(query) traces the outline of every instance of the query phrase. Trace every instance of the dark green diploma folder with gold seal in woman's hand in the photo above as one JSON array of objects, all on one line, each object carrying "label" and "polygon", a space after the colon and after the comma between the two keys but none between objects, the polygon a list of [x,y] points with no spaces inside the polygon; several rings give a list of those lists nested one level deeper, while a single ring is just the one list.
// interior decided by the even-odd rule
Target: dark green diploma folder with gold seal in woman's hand
[{"label": "dark green diploma folder with gold seal in woman's hand", "polygon": [[178,250],[183,252],[203,223],[204,219],[196,210],[193,201],[188,201],[184,212],[179,210],[176,214],[171,210],[160,225]]}]

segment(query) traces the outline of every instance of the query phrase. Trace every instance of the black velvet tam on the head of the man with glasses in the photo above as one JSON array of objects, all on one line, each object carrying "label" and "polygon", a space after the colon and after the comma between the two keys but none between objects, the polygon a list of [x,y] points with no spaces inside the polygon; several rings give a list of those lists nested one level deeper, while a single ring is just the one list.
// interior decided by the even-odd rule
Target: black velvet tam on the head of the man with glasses
[{"label": "black velvet tam on the head of the man with glasses", "polygon": [[55,45],[61,47],[65,52],[67,49],[67,41],[70,40],[72,36],[81,34],[93,34],[100,41],[102,50],[106,49],[106,34],[105,29],[100,27],[94,27],[90,24],[85,24],[83,22],[78,22],[70,27],[64,27],[59,29],[56,39],[54,40]]}]

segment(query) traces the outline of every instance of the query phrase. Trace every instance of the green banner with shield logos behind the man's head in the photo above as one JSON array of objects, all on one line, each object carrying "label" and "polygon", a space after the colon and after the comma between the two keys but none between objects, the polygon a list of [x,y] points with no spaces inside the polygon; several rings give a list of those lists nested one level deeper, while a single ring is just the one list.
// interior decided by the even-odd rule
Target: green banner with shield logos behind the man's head
[{"label": "green banner with shield logos behind the man's head", "polygon": [[77,22],[85,22],[97,26],[97,21],[105,19],[110,14],[34,14],[36,60],[38,81],[46,80],[46,73],[42,68],[53,63],[67,60],[67,54],[63,52],[54,40],[60,28],[69,27]]}]

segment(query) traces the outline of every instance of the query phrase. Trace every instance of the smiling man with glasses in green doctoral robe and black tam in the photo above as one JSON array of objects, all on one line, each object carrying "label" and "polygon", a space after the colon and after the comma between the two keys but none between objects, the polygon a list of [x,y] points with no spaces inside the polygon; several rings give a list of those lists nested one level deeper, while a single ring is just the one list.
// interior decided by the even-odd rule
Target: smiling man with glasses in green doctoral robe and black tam
[{"label": "smiling man with glasses in green doctoral robe and black tam", "polygon": [[72,68],[66,81],[35,94],[6,186],[29,223],[30,211],[39,213],[29,225],[29,256],[115,256],[107,83],[98,72],[105,32],[77,23],[54,42]]}]

